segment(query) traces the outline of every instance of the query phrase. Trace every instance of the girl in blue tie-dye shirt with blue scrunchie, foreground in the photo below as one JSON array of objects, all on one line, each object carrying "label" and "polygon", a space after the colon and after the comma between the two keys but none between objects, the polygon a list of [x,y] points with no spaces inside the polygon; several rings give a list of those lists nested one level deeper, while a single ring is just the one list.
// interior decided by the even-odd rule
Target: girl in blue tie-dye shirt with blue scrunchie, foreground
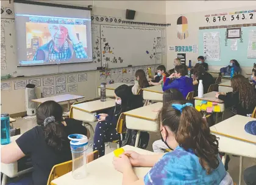
[{"label": "girl in blue tie-dye shirt with blue scrunchie, foreground", "polygon": [[[123,185],[221,183],[228,173],[218,155],[218,140],[192,104],[166,104],[158,113],[158,123],[162,141],[173,151],[158,155],[126,151],[114,157],[115,169],[123,173]],[[132,166],[152,169],[139,179]]]}]

